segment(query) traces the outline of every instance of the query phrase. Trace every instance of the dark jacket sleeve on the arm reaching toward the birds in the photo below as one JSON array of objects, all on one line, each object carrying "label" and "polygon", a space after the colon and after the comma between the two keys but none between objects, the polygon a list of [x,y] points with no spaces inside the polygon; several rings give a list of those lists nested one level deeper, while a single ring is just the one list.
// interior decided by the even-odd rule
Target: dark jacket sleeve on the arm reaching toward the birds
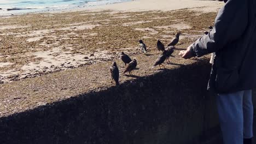
[{"label": "dark jacket sleeve on the arm reaching toward the birds", "polygon": [[212,31],[190,45],[191,52],[194,56],[201,57],[223,49],[245,32],[247,16],[247,1],[229,0],[219,10]]}]

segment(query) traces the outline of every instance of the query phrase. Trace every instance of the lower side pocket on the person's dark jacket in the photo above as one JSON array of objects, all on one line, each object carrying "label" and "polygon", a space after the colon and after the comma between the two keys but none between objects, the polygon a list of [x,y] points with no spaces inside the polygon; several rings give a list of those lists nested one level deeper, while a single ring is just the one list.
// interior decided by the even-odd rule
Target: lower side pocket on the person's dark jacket
[{"label": "lower side pocket on the person's dark jacket", "polygon": [[216,90],[218,93],[228,93],[234,90],[239,79],[238,69],[217,68]]}]

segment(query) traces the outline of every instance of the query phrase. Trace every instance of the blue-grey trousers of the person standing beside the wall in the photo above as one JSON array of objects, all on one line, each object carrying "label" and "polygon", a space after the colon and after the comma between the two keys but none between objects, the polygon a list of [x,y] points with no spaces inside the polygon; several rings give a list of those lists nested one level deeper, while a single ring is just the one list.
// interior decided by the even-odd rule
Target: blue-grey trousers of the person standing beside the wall
[{"label": "blue-grey trousers of the person standing beside the wall", "polygon": [[224,144],[242,144],[253,137],[252,90],[217,95]]}]

